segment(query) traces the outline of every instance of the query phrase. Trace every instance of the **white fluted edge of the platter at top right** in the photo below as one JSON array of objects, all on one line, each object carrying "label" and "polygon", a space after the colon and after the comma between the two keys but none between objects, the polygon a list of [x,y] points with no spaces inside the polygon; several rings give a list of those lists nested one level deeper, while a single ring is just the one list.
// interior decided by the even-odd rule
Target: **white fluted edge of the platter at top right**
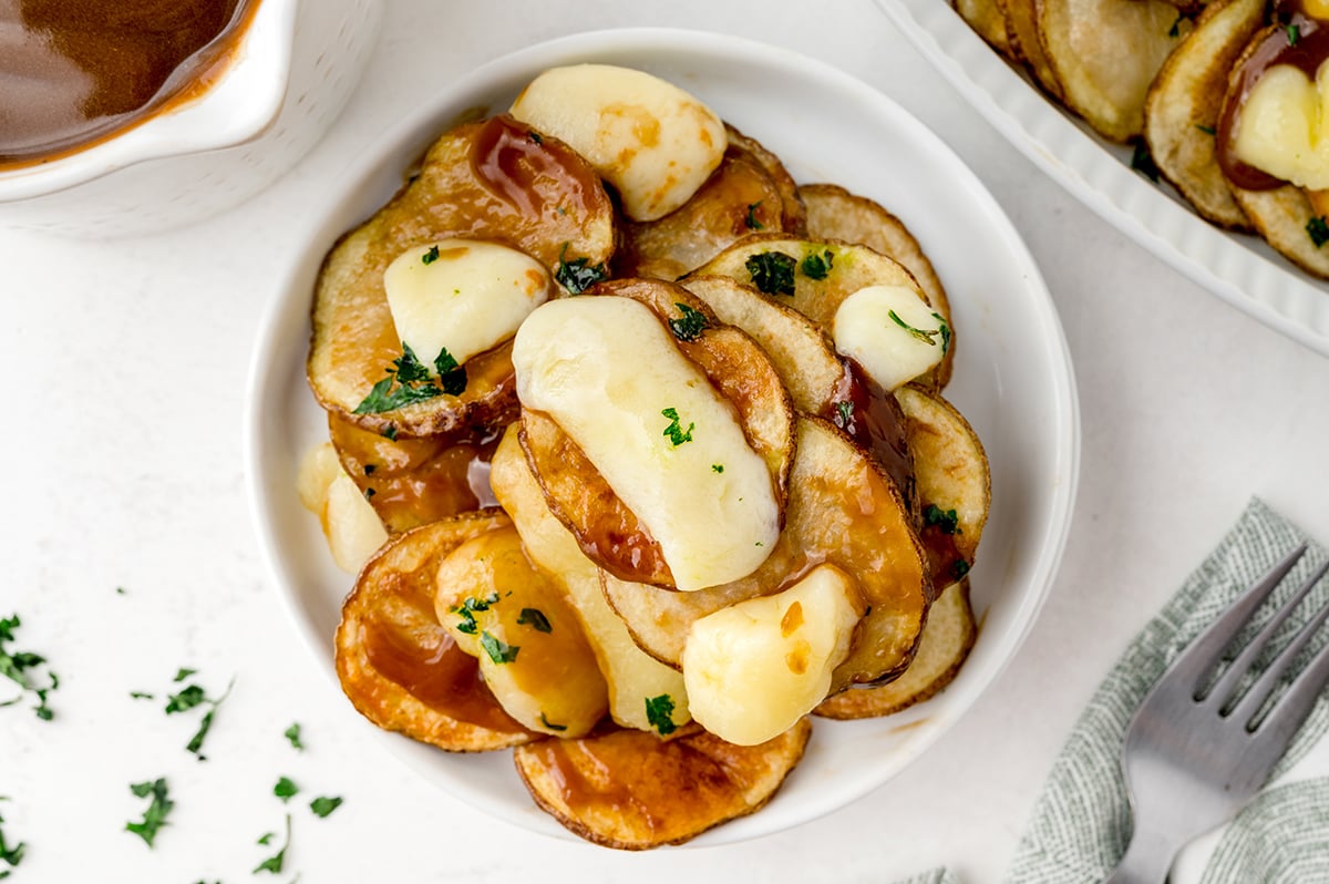
[{"label": "white fluted edge of the platter at top right", "polygon": [[1080,202],[1195,283],[1329,355],[1329,283],[1259,237],[1220,230],[1130,165],[974,33],[946,0],[874,0],[900,32],[1017,149]]}]

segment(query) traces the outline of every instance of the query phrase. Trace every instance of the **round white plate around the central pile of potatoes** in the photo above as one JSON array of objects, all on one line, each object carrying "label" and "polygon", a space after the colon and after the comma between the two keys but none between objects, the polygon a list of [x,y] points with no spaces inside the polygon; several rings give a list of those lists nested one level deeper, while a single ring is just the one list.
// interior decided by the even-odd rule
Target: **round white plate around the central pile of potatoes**
[{"label": "round white plate around the central pile of potatoes", "polygon": [[[946,396],[978,431],[991,463],[991,514],[971,572],[982,627],[957,679],[898,715],[816,720],[807,754],[767,807],[690,841],[732,843],[881,787],[952,727],[1015,653],[1051,586],[1070,525],[1079,460],[1070,356],[1038,267],[993,197],[932,132],[853,77],[785,49],[674,29],[583,33],[492,61],[432,96],[348,174],[327,182],[327,203],[296,219],[308,230],[259,331],[245,428],[253,513],[276,589],[332,690],[332,637],[354,578],[332,564],[295,485],[304,452],[327,439],[304,379],[318,269],[336,238],[387,202],[403,171],[449,125],[477,108],[504,110],[541,70],[579,61],[664,77],[776,153],[796,181],[836,182],[897,214],[948,288],[958,350]],[[371,727],[350,702],[346,717]],[[536,808],[509,752],[449,755],[375,734],[449,794],[573,839]]]}]

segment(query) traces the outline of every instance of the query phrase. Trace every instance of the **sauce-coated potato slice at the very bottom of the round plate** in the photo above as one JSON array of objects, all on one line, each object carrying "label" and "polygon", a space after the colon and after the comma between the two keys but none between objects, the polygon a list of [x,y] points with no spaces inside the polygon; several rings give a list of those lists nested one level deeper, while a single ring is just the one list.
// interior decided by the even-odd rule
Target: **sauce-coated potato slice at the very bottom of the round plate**
[{"label": "sauce-coated potato slice at the very bottom of the round plate", "polygon": [[541,740],[513,758],[536,803],[581,837],[626,851],[682,844],[760,810],[803,758],[811,722],[758,746],[699,727]]}]

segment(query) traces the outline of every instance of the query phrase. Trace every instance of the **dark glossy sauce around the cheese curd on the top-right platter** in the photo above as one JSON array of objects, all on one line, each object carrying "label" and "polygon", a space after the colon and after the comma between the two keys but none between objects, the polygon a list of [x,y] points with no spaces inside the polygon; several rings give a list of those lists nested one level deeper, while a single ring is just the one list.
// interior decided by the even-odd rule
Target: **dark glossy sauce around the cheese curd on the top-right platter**
[{"label": "dark glossy sauce around the cheese curd on the top-right platter", "polygon": [[[1288,183],[1243,162],[1236,153],[1241,105],[1256,81],[1275,65],[1292,65],[1314,82],[1320,65],[1329,60],[1329,27],[1325,27],[1325,23],[1306,15],[1296,0],[1282,0],[1276,3],[1275,8],[1280,21],[1285,19],[1286,25],[1278,25],[1265,35],[1241,65],[1236,82],[1228,89],[1228,98],[1219,117],[1216,133],[1219,166],[1229,181],[1244,190],[1273,190]],[[1296,43],[1289,40],[1288,29],[1293,27],[1297,33]]]}]

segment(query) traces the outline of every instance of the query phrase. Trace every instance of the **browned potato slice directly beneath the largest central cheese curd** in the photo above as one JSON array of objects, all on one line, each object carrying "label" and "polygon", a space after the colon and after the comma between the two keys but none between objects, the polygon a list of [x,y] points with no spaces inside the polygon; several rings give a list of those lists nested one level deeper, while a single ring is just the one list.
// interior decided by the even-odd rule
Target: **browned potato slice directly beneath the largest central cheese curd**
[{"label": "browned potato slice directly beneath the largest central cheese curd", "polygon": [[[614,280],[583,296],[591,295],[631,298],[662,323],[678,319],[678,304],[706,316],[707,326],[694,338],[678,340],[679,350],[735,407],[748,444],[766,461],[783,504],[793,461],[793,411],[766,352],[738,328],[720,324],[703,300],[670,282]],[[520,439],[549,508],[591,561],[622,580],[674,586],[661,545],[556,421],[524,411]]]}]

